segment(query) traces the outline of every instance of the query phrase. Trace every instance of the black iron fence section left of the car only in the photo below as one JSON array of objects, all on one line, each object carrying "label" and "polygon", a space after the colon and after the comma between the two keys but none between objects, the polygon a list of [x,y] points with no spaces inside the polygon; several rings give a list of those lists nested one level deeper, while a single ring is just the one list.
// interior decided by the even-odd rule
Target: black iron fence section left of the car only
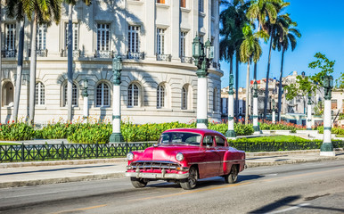
[{"label": "black iron fence section left of the car only", "polygon": [[127,152],[144,150],[152,144],[2,144],[0,162],[124,157]]}]

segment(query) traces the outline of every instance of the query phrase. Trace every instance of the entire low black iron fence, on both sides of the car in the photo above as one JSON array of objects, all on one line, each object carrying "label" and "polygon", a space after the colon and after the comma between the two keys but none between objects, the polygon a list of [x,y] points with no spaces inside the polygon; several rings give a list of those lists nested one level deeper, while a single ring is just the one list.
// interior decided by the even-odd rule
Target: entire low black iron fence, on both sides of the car
[{"label": "entire low black iron fence, on both sides of the car", "polygon": [[[124,157],[127,152],[144,150],[155,142],[122,144],[0,144],[0,162],[56,161]],[[323,142],[228,142],[245,152],[276,152],[319,149]],[[343,148],[344,141],[332,141]]]}]

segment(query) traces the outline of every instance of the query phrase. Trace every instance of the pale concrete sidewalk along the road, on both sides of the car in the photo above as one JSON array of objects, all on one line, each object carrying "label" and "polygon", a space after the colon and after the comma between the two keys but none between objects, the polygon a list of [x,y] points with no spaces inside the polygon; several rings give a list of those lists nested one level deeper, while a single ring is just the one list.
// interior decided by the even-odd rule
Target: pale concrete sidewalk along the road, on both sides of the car
[{"label": "pale concrete sidewalk along the road, on both sides of the car", "polygon": [[[319,150],[292,152],[248,152],[249,168],[310,161],[344,160],[344,152],[335,157],[319,155]],[[0,188],[124,177],[127,160],[97,159],[78,161],[35,161],[0,163]]]}]

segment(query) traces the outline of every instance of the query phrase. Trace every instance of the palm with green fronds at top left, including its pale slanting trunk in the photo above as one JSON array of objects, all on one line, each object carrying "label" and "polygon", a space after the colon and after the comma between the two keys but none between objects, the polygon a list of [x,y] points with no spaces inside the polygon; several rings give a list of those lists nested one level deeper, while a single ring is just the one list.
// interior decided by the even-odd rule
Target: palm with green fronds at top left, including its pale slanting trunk
[{"label": "palm with green fronds at top left, including its pale slanting trunk", "polygon": [[[30,4],[29,4],[30,3]],[[30,53],[30,85],[29,85],[29,124],[34,124],[35,93],[36,93],[36,67],[37,67],[37,23],[51,24],[60,22],[61,0],[26,1],[25,14],[32,21],[31,53]]]}]

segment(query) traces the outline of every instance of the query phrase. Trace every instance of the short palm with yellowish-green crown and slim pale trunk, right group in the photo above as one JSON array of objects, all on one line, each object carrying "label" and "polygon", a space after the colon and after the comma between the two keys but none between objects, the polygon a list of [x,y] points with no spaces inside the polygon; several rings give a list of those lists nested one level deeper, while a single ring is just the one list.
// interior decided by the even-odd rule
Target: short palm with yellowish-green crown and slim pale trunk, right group
[{"label": "short palm with yellowish-green crown and slim pale trunk, right group", "polygon": [[242,41],[240,46],[240,58],[242,62],[247,63],[246,72],[246,106],[245,106],[245,124],[249,122],[249,91],[250,91],[250,62],[257,63],[261,54],[262,49],[259,45],[259,37],[262,37],[259,32],[253,33],[251,26],[246,25],[242,29],[242,33],[245,39]]}]

